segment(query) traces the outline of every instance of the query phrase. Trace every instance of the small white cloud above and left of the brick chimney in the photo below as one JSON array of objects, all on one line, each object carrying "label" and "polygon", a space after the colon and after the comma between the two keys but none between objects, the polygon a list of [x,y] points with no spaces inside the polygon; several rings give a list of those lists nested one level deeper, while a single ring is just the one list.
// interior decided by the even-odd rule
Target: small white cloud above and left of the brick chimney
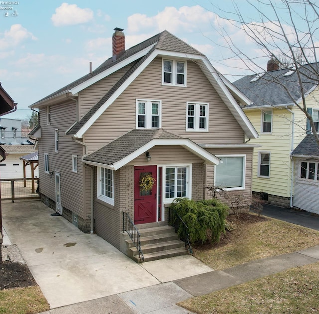
[{"label": "small white cloud above and left of the brick chimney", "polygon": [[62,3],[55,9],[51,20],[54,26],[66,26],[87,23],[93,19],[93,11],[89,8],[81,9],[76,4]]}]

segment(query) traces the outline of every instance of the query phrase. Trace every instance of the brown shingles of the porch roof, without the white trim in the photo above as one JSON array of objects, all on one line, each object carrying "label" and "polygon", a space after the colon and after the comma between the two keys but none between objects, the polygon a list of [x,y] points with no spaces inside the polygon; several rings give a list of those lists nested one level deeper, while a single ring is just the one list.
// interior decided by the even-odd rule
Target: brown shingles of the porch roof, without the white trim
[{"label": "brown shingles of the porch roof, without the white trim", "polygon": [[85,161],[112,165],[122,160],[137,149],[141,148],[152,139],[183,139],[163,129],[132,130],[113,142],[105,145],[91,155],[84,158]]}]

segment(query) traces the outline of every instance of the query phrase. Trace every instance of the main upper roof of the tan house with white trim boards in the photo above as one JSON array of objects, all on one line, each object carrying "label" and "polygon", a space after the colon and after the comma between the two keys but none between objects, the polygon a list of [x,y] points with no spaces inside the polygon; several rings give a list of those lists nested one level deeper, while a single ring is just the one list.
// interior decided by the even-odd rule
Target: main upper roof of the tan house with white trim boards
[{"label": "main upper roof of the tan house with white trim boards", "polygon": [[245,134],[249,138],[258,137],[251,122],[233,98],[229,86],[226,87],[223,80],[220,79],[220,74],[213,68],[208,59],[201,52],[166,30],[124,51],[115,61],[113,58],[109,58],[91,74],[83,76],[33,105],[30,105],[30,107],[37,108],[41,105],[45,105],[49,100],[51,101],[52,98],[60,97],[62,94],[66,95],[67,93],[70,93],[70,95],[76,95],[79,91],[94,84],[98,80],[107,77],[118,69],[123,68],[126,65],[131,65],[121,79],[82,117],[80,121],[76,121],[66,132],[66,134],[73,135],[76,138],[82,138],[83,134],[108,108],[108,106],[111,105],[129,84],[131,84],[146,68],[146,66],[159,55],[171,56],[172,58],[188,58],[189,60],[196,61],[212,86],[216,89],[219,96],[234,115],[239,125],[243,128]]}]

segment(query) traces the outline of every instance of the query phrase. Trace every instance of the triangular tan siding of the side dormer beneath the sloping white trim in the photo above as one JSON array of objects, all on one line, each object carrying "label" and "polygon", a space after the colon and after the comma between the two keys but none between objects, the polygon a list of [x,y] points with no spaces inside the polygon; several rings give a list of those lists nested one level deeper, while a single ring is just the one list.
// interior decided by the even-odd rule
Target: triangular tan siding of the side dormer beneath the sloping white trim
[{"label": "triangular tan siding of the side dormer beneath the sloping white trim", "polygon": [[79,93],[79,119],[81,119],[93,105],[95,105],[102,96],[112,88],[130,67],[131,65],[127,65]]}]

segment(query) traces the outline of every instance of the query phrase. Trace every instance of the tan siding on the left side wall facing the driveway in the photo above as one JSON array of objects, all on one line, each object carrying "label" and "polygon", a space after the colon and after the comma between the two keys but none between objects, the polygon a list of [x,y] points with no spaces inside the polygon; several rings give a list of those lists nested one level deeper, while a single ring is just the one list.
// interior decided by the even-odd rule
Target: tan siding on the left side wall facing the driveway
[{"label": "tan siding on the left side wall facing the driveway", "polygon": [[[64,132],[75,121],[75,102],[51,105],[51,123],[46,122],[46,108],[39,110],[41,139],[39,139],[40,192],[55,201],[55,178],[44,173],[44,153],[49,154],[49,170],[61,175],[61,204],[83,219],[87,219],[83,197],[83,147]],[[59,152],[54,152],[54,130],[59,130]],[[72,172],[72,155],[78,156],[78,172]],[[90,214],[90,213],[89,213]]]}]

